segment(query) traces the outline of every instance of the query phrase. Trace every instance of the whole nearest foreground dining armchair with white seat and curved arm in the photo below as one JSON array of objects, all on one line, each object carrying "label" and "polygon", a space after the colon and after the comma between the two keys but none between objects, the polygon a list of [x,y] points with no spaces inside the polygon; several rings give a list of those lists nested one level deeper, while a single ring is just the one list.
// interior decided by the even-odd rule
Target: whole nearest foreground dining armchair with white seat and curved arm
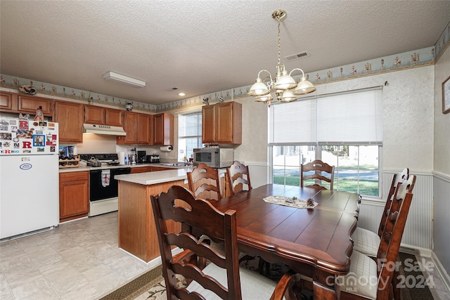
[{"label": "whole nearest foreground dining armchair with white seat and curved arm", "polygon": [[[253,270],[239,267],[236,211],[219,211],[208,200],[195,198],[190,190],[179,185],[173,185],[167,193],[151,196],[150,201],[167,299],[283,299],[283,296],[297,299],[293,285],[300,275],[292,270],[277,284]],[[167,227],[169,220],[181,222],[181,232],[171,232]],[[224,243],[224,254],[199,241],[189,228]],[[174,256],[174,247],[182,252]],[[207,259],[205,268],[199,267],[200,258]],[[176,274],[186,278],[187,287],[177,286]]]}]

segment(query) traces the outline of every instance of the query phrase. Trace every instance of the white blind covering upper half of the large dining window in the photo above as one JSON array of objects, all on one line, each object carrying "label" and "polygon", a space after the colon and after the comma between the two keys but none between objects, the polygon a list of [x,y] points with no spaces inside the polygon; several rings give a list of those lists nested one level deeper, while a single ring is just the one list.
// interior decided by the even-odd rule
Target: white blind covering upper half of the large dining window
[{"label": "white blind covering upper half of the large dining window", "polygon": [[326,144],[383,141],[382,89],[316,96],[271,105],[269,143]]}]

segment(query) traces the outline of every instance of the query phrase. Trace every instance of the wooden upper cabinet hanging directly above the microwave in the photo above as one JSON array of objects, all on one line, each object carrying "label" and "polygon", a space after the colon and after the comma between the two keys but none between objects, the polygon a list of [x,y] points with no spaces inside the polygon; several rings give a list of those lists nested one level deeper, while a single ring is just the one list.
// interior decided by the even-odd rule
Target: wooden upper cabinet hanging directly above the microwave
[{"label": "wooden upper cabinet hanging directly above the microwave", "polygon": [[225,102],[202,107],[203,143],[242,143],[242,105]]}]

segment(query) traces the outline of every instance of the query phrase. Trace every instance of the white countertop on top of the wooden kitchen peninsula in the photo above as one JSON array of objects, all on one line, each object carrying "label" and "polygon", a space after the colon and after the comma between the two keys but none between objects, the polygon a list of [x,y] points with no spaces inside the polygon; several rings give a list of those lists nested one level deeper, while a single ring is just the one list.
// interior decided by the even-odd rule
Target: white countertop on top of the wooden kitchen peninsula
[{"label": "white countertop on top of the wooden kitchen peninsula", "polygon": [[186,174],[190,171],[192,171],[191,168],[178,168],[174,170],[165,170],[158,172],[116,175],[114,176],[114,178],[118,181],[127,181],[142,185],[153,185],[157,183],[179,181],[184,179],[187,181],[188,176]]}]

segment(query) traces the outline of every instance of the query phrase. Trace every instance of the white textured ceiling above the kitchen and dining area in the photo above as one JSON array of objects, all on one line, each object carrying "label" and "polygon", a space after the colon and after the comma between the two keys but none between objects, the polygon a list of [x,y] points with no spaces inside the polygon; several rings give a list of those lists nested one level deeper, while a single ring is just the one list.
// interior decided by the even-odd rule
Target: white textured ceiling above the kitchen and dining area
[{"label": "white textured ceiling above the kitchen and dining area", "polygon": [[450,21],[450,1],[1,0],[0,72],[151,104],[245,86],[276,71],[278,8],[281,56],[310,55],[282,62],[304,72],[433,46]]}]

